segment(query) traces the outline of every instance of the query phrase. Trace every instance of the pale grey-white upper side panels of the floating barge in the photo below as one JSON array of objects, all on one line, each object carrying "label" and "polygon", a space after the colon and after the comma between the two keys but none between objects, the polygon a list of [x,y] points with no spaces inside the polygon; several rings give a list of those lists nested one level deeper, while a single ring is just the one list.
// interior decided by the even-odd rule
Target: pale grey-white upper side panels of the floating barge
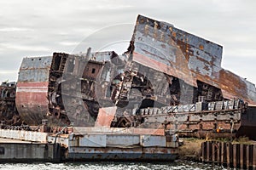
[{"label": "pale grey-white upper side panels of the floating barge", "polygon": [[[49,143],[59,143],[62,146],[69,147],[172,147],[177,148],[178,141],[167,139],[169,137],[154,134],[136,134],[136,133],[87,133],[87,134],[51,134],[47,137]],[[168,140],[168,144],[167,144]]]}]

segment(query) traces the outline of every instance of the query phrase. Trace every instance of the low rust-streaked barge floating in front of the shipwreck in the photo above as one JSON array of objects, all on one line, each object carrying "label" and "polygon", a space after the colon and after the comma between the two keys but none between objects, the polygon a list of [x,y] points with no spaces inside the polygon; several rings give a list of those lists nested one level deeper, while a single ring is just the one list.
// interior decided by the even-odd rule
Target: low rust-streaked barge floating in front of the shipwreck
[{"label": "low rust-streaked barge floating in front of the shipwreck", "polygon": [[[70,134],[0,129],[0,138],[8,141],[0,142],[0,161],[177,159],[177,137],[165,136],[164,131],[105,127],[70,129],[73,131]],[[15,142],[10,139],[15,139]]]}]

